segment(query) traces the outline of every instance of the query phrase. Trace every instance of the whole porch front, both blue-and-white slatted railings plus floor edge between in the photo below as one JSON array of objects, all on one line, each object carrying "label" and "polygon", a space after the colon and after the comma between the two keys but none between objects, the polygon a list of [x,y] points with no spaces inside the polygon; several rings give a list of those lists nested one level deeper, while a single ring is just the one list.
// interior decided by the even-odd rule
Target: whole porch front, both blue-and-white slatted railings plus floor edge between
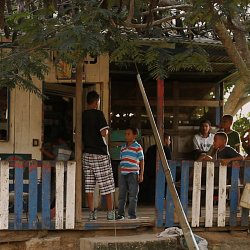
[{"label": "whole porch front, both blue-and-white slatted railings plus floor edge between", "polygon": [[[193,229],[221,231],[249,227],[249,210],[240,208],[238,203],[242,193],[239,190],[250,182],[250,161],[233,162],[232,167],[221,166],[217,161],[169,161],[169,165]],[[56,173],[54,219],[50,217],[52,168]],[[10,169],[14,170],[13,179]],[[24,184],[27,172],[28,182]],[[88,222],[87,208],[83,208],[82,221],[75,222],[75,173],[75,162],[0,161],[0,229],[93,231],[178,226],[162,168],[156,173],[155,207],[139,206],[137,220],[111,222],[106,220],[105,211],[98,213],[96,222]],[[11,202],[14,210],[10,209]]]}]

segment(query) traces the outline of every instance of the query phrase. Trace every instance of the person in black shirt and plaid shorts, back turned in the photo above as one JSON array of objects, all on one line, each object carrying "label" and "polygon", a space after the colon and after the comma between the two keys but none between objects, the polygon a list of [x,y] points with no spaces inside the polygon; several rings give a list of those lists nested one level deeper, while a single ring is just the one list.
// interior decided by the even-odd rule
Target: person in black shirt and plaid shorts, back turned
[{"label": "person in black shirt and plaid shorts, back turned", "polygon": [[108,124],[100,106],[100,96],[96,91],[87,95],[88,109],[83,113],[83,170],[85,177],[85,192],[89,206],[89,220],[96,220],[93,193],[96,183],[101,195],[106,196],[107,219],[114,220],[112,193],[115,192],[114,178],[110,156],[105,137],[108,134]]}]

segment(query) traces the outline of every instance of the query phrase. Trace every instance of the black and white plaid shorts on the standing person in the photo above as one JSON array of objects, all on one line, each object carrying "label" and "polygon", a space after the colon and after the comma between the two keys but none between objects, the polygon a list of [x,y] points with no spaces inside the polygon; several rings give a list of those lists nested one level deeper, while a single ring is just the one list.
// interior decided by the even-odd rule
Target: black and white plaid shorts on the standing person
[{"label": "black and white plaid shorts on the standing person", "polygon": [[101,195],[115,192],[115,184],[109,155],[83,154],[85,192],[93,193],[96,183]]}]

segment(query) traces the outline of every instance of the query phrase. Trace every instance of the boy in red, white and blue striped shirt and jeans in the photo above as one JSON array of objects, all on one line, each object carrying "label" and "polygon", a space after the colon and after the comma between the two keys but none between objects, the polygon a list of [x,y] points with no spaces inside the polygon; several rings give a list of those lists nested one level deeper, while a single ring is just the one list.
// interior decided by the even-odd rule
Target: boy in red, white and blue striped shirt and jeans
[{"label": "boy in red, white and blue striped shirt and jeans", "polygon": [[141,145],[136,141],[136,128],[127,128],[126,144],[121,148],[119,205],[116,219],[123,220],[127,194],[129,199],[128,218],[136,219],[139,183],[143,181],[144,155]]}]

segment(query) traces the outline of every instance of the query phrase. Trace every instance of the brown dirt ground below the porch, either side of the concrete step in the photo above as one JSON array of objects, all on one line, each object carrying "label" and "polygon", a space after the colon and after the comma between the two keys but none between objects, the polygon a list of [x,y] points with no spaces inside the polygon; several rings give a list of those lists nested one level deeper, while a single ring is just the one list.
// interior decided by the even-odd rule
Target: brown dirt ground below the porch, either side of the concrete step
[{"label": "brown dirt ground below the porch, either side of the concrete step", "polygon": [[[103,236],[129,236],[157,232],[144,228],[139,230],[100,230],[100,231],[1,231],[0,250],[79,250],[81,238]],[[195,232],[205,238],[212,250],[250,249],[250,234],[247,231]]]}]

